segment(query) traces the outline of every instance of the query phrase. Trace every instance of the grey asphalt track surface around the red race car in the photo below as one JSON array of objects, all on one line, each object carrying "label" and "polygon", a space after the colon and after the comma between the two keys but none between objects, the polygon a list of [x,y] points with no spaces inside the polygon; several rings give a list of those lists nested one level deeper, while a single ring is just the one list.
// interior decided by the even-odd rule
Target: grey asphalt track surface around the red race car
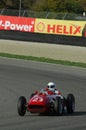
[{"label": "grey asphalt track surface around the red race car", "polygon": [[[73,115],[40,116],[17,113],[17,101],[29,99],[49,81],[57,84],[64,96],[73,93]],[[31,61],[0,58],[0,130],[86,130],[86,69]]]}]

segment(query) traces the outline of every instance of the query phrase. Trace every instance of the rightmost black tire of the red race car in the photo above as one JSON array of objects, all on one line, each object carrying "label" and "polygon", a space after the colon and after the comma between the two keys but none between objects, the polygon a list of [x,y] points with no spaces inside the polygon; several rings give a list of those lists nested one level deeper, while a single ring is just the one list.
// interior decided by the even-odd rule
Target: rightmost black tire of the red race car
[{"label": "rightmost black tire of the red race car", "polygon": [[66,99],[67,113],[73,113],[75,110],[75,97],[73,94],[68,94]]}]

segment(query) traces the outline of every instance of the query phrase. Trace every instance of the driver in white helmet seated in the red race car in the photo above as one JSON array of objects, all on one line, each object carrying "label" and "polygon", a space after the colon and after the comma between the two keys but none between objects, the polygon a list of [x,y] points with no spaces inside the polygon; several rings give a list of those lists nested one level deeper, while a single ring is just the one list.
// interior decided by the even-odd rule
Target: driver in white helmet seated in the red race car
[{"label": "driver in white helmet seated in the red race car", "polygon": [[47,84],[47,88],[45,89],[45,91],[47,91],[48,94],[57,94],[57,95],[61,95],[60,91],[58,91],[56,89],[56,85],[53,82],[49,82]]}]

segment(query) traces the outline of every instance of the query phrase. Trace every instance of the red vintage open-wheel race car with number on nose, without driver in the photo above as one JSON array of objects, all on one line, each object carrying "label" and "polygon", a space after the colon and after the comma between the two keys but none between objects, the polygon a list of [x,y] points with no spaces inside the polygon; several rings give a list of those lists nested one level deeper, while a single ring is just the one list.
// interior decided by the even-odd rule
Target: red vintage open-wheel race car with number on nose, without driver
[{"label": "red vintage open-wheel race car with number on nose, without driver", "polygon": [[68,94],[67,98],[54,93],[48,94],[46,91],[31,94],[27,101],[24,96],[19,97],[17,111],[20,116],[24,116],[26,111],[30,113],[62,115],[73,113],[75,110],[75,97]]}]

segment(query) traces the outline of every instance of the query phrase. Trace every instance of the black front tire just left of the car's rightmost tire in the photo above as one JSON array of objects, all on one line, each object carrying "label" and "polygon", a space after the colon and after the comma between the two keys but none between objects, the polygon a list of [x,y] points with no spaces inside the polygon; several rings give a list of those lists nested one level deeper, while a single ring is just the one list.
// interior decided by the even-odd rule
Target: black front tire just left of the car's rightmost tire
[{"label": "black front tire just left of the car's rightmost tire", "polygon": [[63,113],[63,105],[62,105],[62,100],[60,97],[56,97],[55,102],[54,102],[54,110],[56,115],[62,115]]}]

